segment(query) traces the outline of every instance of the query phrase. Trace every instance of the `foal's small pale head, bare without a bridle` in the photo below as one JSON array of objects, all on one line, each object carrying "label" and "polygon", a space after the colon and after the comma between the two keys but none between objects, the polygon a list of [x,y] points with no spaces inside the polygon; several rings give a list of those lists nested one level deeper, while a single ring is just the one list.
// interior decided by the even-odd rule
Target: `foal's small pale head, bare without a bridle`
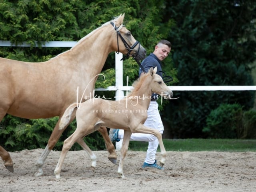
[{"label": "foal's small pale head, bare without a bridle", "polygon": [[162,77],[158,74],[157,67],[150,68],[149,74],[152,77],[151,83],[150,83],[150,89],[152,93],[156,93],[161,95],[163,98],[171,98],[173,96],[172,90],[168,88],[168,86],[164,83]]}]

